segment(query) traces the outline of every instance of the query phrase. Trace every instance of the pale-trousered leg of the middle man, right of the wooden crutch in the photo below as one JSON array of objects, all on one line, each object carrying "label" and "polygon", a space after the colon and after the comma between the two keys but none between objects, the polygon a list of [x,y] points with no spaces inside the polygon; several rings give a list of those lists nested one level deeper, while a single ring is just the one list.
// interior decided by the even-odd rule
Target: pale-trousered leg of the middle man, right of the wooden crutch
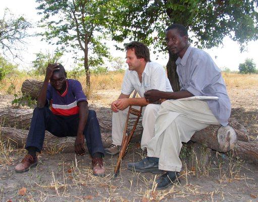
[{"label": "pale-trousered leg of the middle man, right of the wooden crutch", "polygon": [[147,147],[149,140],[154,137],[154,124],[157,119],[160,105],[148,104],[144,110],[142,116],[142,137],[141,137],[141,148],[144,150]]}]

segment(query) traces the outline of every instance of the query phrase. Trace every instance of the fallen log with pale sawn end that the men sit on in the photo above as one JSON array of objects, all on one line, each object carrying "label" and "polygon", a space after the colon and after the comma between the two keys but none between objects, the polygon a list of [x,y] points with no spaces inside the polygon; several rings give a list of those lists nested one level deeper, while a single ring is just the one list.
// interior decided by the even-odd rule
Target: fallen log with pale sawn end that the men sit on
[{"label": "fallen log with pale sawn end that the men sit on", "polygon": [[[106,115],[109,113],[109,118],[105,116],[100,116],[101,118],[99,119],[99,125],[102,132],[111,132],[112,120],[110,109],[101,108],[101,110],[94,110],[96,111],[97,116],[100,114]],[[0,121],[2,126],[28,129],[32,117],[32,112],[32,109],[0,110]],[[133,124],[134,119],[130,119],[128,123],[128,133],[129,130],[131,130],[131,128],[133,127]],[[248,141],[247,131],[241,124],[231,119],[230,125],[232,125],[234,129],[231,126],[222,127],[220,125],[211,125],[203,130],[197,131],[193,135],[191,140],[194,142],[205,144],[208,147],[220,152],[226,152],[232,149],[236,144],[236,136],[237,139],[240,139],[242,141]],[[143,128],[140,121],[133,136],[134,141],[140,141],[142,130]],[[217,131],[219,131],[219,133],[217,133]]]}]

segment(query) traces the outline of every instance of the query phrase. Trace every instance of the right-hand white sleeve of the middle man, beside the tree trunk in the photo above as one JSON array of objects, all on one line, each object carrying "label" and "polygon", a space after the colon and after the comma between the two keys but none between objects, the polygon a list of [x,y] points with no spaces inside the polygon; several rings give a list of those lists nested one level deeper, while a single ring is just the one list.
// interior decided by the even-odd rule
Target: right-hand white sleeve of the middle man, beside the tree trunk
[{"label": "right-hand white sleeve of the middle man, beside the tree trunk", "polygon": [[165,69],[160,66],[151,73],[150,89],[167,91],[167,75]]}]

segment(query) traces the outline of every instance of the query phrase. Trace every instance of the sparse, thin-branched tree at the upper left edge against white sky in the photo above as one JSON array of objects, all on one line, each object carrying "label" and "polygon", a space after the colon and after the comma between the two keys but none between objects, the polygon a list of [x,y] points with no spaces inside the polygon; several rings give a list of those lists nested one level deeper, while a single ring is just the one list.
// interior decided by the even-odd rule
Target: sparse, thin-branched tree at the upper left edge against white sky
[{"label": "sparse, thin-branched tree at the upper left edge against white sky", "polygon": [[20,51],[26,43],[25,38],[31,36],[28,30],[32,27],[31,23],[24,17],[15,17],[9,9],[5,9],[2,19],[0,19],[0,46],[2,54],[7,56],[11,53],[14,58],[20,58]]}]

